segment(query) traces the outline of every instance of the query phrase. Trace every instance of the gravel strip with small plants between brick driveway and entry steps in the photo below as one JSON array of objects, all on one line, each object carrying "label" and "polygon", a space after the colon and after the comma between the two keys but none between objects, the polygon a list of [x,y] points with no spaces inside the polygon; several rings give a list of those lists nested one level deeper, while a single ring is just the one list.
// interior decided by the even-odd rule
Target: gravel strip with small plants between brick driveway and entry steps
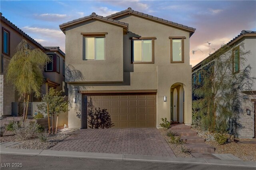
[{"label": "gravel strip with small plants between brick driveway and entry steps", "polygon": [[181,148],[184,147],[183,145],[174,145],[172,143],[170,143],[170,137],[168,137],[166,135],[166,133],[169,131],[166,130],[166,129],[158,129],[162,135],[162,137],[164,138],[164,140],[168,143],[168,145],[170,146],[170,148],[172,149],[172,151],[174,152],[175,156],[176,157],[179,157],[179,158],[194,158],[194,156],[190,153],[184,153],[184,152],[181,152]]}]

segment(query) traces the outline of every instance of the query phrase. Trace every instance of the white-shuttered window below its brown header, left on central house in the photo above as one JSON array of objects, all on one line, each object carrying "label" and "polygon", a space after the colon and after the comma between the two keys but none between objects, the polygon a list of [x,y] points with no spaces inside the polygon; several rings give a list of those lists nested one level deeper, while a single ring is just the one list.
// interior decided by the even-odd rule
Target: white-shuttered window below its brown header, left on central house
[{"label": "white-shuttered window below its brown header, left on central house", "polygon": [[83,60],[104,60],[105,59],[105,38],[84,37]]}]

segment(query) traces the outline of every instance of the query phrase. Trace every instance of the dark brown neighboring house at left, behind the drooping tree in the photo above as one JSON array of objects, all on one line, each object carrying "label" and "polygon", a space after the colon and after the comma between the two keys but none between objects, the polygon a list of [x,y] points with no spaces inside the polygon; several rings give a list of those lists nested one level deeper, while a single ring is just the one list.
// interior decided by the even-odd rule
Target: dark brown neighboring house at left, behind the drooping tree
[{"label": "dark brown neighboring house at left, behind the drooping tree", "polygon": [[[25,39],[31,49],[38,48],[49,57],[53,58],[53,62],[47,64],[47,70],[43,73],[46,83],[42,86],[42,94],[46,94],[49,87],[56,88],[57,90],[62,90],[62,87],[64,87],[63,82],[65,80],[65,75],[63,73],[63,66],[65,64],[65,54],[59,49],[59,47],[43,47],[16,25],[4,18],[2,13],[0,18],[0,42],[2,44],[0,48],[0,117],[21,115],[23,114],[23,112],[20,111],[22,110],[22,105],[18,105],[18,102],[22,102],[19,101],[20,96],[15,92],[12,84],[7,84],[5,77],[6,68],[10,63],[12,56],[16,53],[17,45],[22,41],[22,39]],[[34,113],[32,111],[34,108],[34,106],[32,107],[33,102],[40,101],[41,99],[30,98],[28,115],[31,116],[32,113]]]}]

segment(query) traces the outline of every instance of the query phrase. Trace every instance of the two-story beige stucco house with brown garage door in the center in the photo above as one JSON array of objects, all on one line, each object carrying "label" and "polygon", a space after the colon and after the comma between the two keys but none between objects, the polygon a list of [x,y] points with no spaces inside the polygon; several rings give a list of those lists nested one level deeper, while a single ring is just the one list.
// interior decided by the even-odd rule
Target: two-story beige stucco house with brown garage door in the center
[{"label": "two-story beige stucco house with brown garage door in the center", "polygon": [[66,34],[69,127],[87,128],[87,108],[107,109],[113,128],[192,121],[189,39],[195,29],[127,10],[60,25]]}]

